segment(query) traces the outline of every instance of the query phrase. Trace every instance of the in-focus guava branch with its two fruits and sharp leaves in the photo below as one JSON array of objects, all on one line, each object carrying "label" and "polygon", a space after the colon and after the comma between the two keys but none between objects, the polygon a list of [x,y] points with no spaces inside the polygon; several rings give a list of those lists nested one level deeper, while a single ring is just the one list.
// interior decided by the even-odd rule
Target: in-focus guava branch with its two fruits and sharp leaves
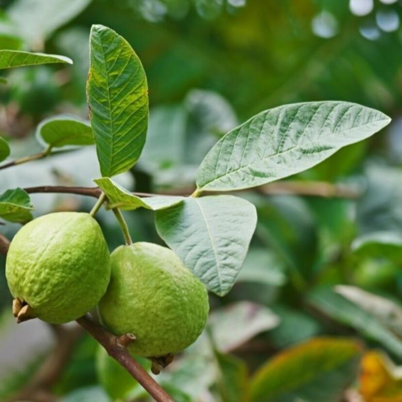
[{"label": "in-focus guava branch with its two fruits and sharp leaves", "polygon": [[[72,62],[58,55],[0,50],[2,69],[49,63]],[[0,196],[0,217],[24,225],[11,244],[0,237],[13,313],[17,322],[77,320],[156,401],[172,401],[134,356],[151,360],[152,372],[158,373],[201,334],[207,291],[224,296],[231,290],[257,222],[253,204],[232,193],[311,168],[378,132],[390,118],[341,101],[265,110],[218,140],[198,168],[191,195],[139,194],[113,177],[141,157],[149,114],[146,74],[128,42],[101,25],[94,25],[90,34],[86,93],[89,121],[48,118],[37,129],[43,151],[0,165],[4,170],[95,144],[100,167],[96,187],[44,183],[11,188]],[[9,154],[0,138],[0,159]],[[29,194],[37,192],[97,201],[89,214],[61,212],[33,219]],[[116,216],[125,239],[111,255],[94,219],[101,207]],[[156,230],[168,248],[133,243],[121,211],[139,208],[154,211]],[[96,306],[101,322],[89,314]]]}]

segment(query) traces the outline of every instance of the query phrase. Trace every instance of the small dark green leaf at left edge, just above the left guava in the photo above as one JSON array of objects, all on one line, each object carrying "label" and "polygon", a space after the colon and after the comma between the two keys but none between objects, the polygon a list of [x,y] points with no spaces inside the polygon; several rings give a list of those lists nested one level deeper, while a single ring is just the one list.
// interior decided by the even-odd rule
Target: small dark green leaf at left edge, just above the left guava
[{"label": "small dark green leaf at left edge, just above the left guava", "polygon": [[22,188],[7,190],[0,195],[0,217],[10,222],[27,222],[33,217],[31,199]]}]

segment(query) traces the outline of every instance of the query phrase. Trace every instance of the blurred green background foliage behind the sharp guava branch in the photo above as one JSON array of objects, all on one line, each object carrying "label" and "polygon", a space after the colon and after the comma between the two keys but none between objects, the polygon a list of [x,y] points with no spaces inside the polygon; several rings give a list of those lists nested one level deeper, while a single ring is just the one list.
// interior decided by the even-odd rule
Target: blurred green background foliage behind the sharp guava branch
[{"label": "blurred green background foliage behind the sharp guava branch", "polygon": [[[232,291],[224,298],[211,295],[211,321],[205,333],[157,377],[174,400],[339,401],[347,386],[358,387],[356,359],[363,348],[381,348],[401,364],[401,334],[395,333],[384,310],[376,315],[334,290],[339,284],[359,286],[400,307],[400,2],[375,0],[366,15],[337,0],[58,0],[51,7],[49,3],[0,2],[0,49],[46,50],[74,60],[71,67],[2,73],[7,83],[0,85],[0,134],[11,148],[10,158],[40,151],[34,133],[44,118],[56,113],[87,118],[85,80],[93,23],[110,26],[127,38],[148,77],[147,144],[139,164],[117,177],[132,190],[190,193],[197,166],[218,138],[274,106],[354,101],[393,118],[382,133],[291,178],[313,183],[317,191],[323,183],[343,186],[346,195],[242,193],[257,206],[257,231]],[[91,179],[98,176],[95,151],[88,147],[0,173],[0,193],[12,186],[93,186]],[[35,216],[55,210],[88,211],[93,203],[60,194],[33,195],[32,201]],[[127,212],[125,217],[134,239],[162,243],[151,211]],[[104,211],[99,220],[113,250],[122,242],[117,223]],[[0,232],[12,237],[18,228],[1,224]],[[1,255],[0,272],[0,307],[7,314],[11,296]],[[227,314],[221,320],[223,329],[214,329],[214,316],[219,317],[222,309],[230,311],[230,304],[244,308],[246,302],[248,314]],[[257,315],[259,320],[256,312],[262,314]],[[29,323],[24,325],[29,328]],[[11,320],[1,320],[0,331],[14,330]],[[222,350],[219,331],[228,336],[227,344],[235,344],[233,348]],[[320,339],[322,335],[329,338]],[[361,344],[340,341],[341,336],[359,338]],[[2,338],[0,361],[6,361],[10,352],[1,347]],[[340,344],[345,355],[336,356],[338,342],[346,342]],[[325,348],[320,349],[322,344]],[[42,355],[28,349],[25,369],[10,364],[8,375],[0,372],[1,398],[21,388],[37,371]],[[110,384],[102,388],[105,379],[96,370],[96,350],[96,343],[83,337],[50,391],[64,401],[109,401]],[[276,353],[285,356],[282,368],[275,368]],[[288,359],[289,353],[297,358]],[[318,392],[323,386],[313,378],[314,370],[322,369],[322,355],[335,361],[325,366],[331,382],[325,394]],[[283,386],[283,378],[298,378],[306,366],[313,368],[312,378],[303,377],[291,390]],[[264,377],[272,367],[278,380]],[[401,390],[397,384],[395,394]],[[132,400],[146,398],[139,388],[134,384],[129,390]]]}]

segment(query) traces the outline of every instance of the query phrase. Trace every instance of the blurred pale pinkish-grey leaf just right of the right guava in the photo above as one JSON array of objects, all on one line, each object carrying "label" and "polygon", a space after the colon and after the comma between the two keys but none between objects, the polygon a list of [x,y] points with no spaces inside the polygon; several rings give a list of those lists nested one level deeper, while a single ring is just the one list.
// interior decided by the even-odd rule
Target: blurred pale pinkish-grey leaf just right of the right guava
[{"label": "blurred pale pinkish-grey leaf just right of the right guava", "polygon": [[208,324],[214,346],[218,351],[227,353],[255,335],[275,328],[279,318],[268,307],[251,301],[239,301],[214,310]]}]

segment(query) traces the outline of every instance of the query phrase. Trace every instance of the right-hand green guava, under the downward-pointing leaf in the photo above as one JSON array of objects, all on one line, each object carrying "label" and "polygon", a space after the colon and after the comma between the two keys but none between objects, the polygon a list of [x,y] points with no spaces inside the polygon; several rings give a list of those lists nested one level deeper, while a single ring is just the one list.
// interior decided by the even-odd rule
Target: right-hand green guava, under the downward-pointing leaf
[{"label": "right-hand green guava, under the downward-pointing leaf", "polygon": [[115,335],[134,334],[133,355],[177,353],[201,334],[208,293],[176,254],[152,243],[120,246],[111,255],[109,287],[98,306]]}]

